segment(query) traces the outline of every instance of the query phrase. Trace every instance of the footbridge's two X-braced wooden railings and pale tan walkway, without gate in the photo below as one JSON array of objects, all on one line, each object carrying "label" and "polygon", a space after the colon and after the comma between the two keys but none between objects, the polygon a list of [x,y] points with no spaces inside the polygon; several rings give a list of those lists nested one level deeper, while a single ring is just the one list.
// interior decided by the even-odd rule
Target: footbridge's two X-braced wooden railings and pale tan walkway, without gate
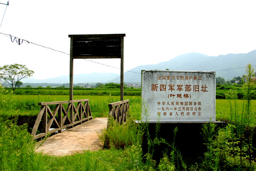
[{"label": "footbridge's two X-braced wooden railings and pale tan walkway, without gate", "polygon": [[[119,124],[126,121],[127,111],[129,109],[129,101],[130,100],[123,100],[108,104],[109,115],[113,116]],[[74,149],[74,151],[79,151],[81,150],[80,146],[83,145],[77,145],[77,142],[79,142],[78,140],[81,138],[85,139],[86,136],[88,137],[88,135],[88,139],[94,137],[93,142],[98,143],[97,145],[99,147],[103,147],[103,145],[99,145],[100,142],[98,140],[98,136],[95,135],[97,135],[97,132],[99,133],[100,129],[107,127],[108,120],[107,118],[96,118],[93,120],[90,111],[89,99],[41,102],[38,103],[38,105],[41,105],[41,110],[39,111],[37,120],[35,121],[35,125],[32,130],[32,136],[34,137],[34,140],[45,137],[47,134],[53,134],[55,132],[62,133],[64,130],[68,129],[68,131],[65,131],[65,134],[58,134],[57,139],[55,138],[57,134],[49,137],[47,141],[44,142],[47,143],[47,145],[45,146],[43,143],[43,149],[40,148],[40,150],[47,151],[47,149],[58,147],[55,148],[55,150],[59,151],[62,148],[61,145],[64,145],[64,149],[68,148],[70,150],[73,149],[73,147],[79,147]],[[80,133],[84,133],[79,135],[80,138],[74,136],[75,132],[78,131]],[[63,143],[63,141],[70,140],[70,136],[73,137],[71,138],[71,142]],[[90,141],[92,140],[90,139]],[[86,144],[86,142],[82,143]],[[82,149],[90,149],[88,145],[90,145],[90,143],[87,143],[87,145],[85,145]],[[62,153],[52,154],[59,155],[65,153],[66,152],[64,150]]]}]

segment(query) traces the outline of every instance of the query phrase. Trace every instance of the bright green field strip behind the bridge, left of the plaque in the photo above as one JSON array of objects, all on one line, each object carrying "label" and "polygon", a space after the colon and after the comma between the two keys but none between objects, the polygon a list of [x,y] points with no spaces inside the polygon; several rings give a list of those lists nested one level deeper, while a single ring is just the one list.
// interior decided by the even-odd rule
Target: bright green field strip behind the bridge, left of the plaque
[{"label": "bright green field strip behind the bridge, left of the plaque", "polygon": [[[107,117],[108,104],[120,101],[119,96],[74,96],[74,100],[90,99],[89,105],[93,117]],[[140,97],[125,96],[130,100],[130,105],[140,104]],[[0,112],[4,115],[37,115],[41,106],[39,102],[65,101],[69,100],[66,95],[0,95]],[[132,107],[131,107],[132,108]]]}]

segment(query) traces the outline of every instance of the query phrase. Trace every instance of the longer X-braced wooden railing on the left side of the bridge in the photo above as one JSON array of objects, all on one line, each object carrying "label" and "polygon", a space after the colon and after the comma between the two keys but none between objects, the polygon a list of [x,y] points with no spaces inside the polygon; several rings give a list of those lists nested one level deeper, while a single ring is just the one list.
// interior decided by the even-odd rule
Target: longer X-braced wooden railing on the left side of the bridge
[{"label": "longer X-braced wooden railing on the left side of the bridge", "polygon": [[[77,103],[77,105],[75,106],[74,103]],[[67,109],[64,108],[63,104],[68,104]],[[93,119],[89,99],[40,102],[38,105],[41,105],[41,109],[31,133],[32,136],[34,136],[34,140],[56,131],[62,132],[64,128],[73,127],[78,123]],[[56,105],[53,111],[50,109],[49,105]],[[58,116],[57,119],[55,118],[56,115]],[[51,126],[54,128],[50,130]],[[37,131],[41,133],[36,134]]]}]

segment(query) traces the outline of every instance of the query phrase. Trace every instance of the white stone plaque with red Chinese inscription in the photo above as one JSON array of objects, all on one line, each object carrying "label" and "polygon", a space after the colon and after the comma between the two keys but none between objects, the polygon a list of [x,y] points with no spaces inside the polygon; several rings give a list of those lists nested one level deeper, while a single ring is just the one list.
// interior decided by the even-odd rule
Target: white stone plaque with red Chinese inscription
[{"label": "white stone plaque with red Chinese inscription", "polygon": [[215,122],[215,71],[141,73],[141,97],[150,114],[148,122],[157,122],[159,117],[160,122]]}]

